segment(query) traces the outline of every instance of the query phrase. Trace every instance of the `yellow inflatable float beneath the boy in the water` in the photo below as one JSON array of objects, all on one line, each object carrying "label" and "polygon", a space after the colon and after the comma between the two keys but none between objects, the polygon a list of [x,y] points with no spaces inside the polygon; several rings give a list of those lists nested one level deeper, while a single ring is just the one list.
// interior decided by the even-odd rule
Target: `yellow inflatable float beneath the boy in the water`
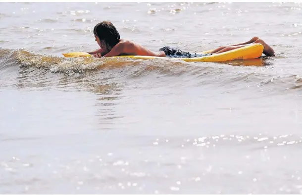
[{"label": "yellow inflatable float beneath the boy in the water", "polygon": [[[177,59],[177,60],[184,60],[187,62],[223,62],[223,61],[230,61],[230,60],[238,60],[238,59],[254,59],[258,58],[262,55],[263,46],[261,44],[251,44],[249,46],[245,46],[239,49],[233,49],[230,51],[226,51],[223,53],[212,54],[202,57],[184,57],[184,58],[177,58],[177,57],[155,57],[155,56],[144,56],[144,55],[120,55],[114,56],[112,58],[121,58],[127,57],[132,59]],[[203,51],[202,53],[209,53],[211,50]],[[71,52],[71,53],[63,53],[65,57],[91,57],[89,53],[86,52]]]}]

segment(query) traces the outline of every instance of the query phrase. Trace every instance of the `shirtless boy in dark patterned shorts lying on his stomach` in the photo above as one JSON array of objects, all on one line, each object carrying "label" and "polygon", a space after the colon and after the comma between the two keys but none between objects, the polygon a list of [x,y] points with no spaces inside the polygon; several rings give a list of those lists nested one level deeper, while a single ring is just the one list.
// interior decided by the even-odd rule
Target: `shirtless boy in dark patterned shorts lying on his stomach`
[{"label": "shirtless boy in dark patterned shorts lying on his stomach", "polygon": [[93,54],[95,57],[111,57],[118,55],[147,55],[147,56],[160,56],[160,57],[201,57],[204,55],[211,55],[214,53],[222,53],[225,51],[238,49],[245,47],[249,44],[261,44],[264,46],[263,53],[267,56],[275,56],[274,50],[268,46],[263,40],[257,37],[252,38],[246,43],[241,43],[233,46],[219,47],[211,50],[210,53],[190,53],[180,49],[174,49],[171,47],[164,47],[157,52],[153,52],[144,48],[139,44],[135,44],[132,41],[120,39],[120,35],[111,22],[103,21],[97,24],[94,28],[94,35],[96,42],[98,42],[100,49],[97,49],[89,54]]}]

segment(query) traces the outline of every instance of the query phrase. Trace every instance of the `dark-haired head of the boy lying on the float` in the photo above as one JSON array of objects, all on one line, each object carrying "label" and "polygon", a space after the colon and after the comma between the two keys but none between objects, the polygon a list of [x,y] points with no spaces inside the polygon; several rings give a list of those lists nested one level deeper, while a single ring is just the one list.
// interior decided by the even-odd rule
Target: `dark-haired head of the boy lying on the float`
[{"label": "dark-haired head of the boy lying on the float", "polygon": [[110,51],[118,44],[120,36],[116,28],[111,22],[103,21],[97,24],[94,28],[96,41],[102,49]]}]

